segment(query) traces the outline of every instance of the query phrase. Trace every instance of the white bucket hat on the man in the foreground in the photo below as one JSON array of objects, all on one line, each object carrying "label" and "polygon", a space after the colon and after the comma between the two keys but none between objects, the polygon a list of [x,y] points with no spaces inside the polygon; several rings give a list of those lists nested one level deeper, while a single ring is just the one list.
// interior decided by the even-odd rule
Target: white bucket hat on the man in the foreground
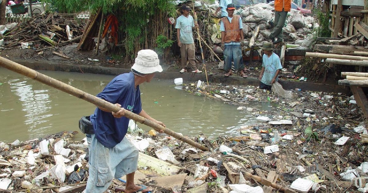
[{"label": "white bucket hat on the man in the foreground", "polygon": [[132,69],[141,74],[151,74],[154,72],[162,72],[158,55],[153,50],[138,51],[137,58]]}]

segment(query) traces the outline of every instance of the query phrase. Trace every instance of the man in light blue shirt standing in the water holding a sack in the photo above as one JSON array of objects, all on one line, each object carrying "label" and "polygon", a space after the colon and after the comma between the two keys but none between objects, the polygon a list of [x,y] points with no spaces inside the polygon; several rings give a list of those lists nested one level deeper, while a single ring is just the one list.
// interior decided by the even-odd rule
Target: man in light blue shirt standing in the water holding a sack
[{"label": "man in light blue shirt standing in the water holding a sack", "polygon": [[260,89],[271,90],[272,84],[279,81],[278,75],[282,69],[280,57],[272,52],[272,44],[269,42],[263,43],[261,47],[263,51],[262,70],[258,79],[261,81]]}]

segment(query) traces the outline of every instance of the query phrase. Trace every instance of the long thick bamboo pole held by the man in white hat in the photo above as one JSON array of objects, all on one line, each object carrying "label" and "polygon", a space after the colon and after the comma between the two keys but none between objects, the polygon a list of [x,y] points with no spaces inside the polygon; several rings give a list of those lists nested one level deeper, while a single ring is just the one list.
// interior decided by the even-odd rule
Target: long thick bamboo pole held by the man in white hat
[{"label": "long thick bamboo pole held by the man in white hat", "polygon": [[[112,103],[107,102],[106,100],[100,99],[96,96],[93,96],[92,94],[88,94],[86,92],[83,92],[82,90],[76,89],[75,87],[72,87],[70,85],[67,85],[66,83],[60,82],[54,78],[51,78],[49,76],[46,76],[44,74],[41,74],[31,68],[25,67],[23,65],[20,65],[16,62],[13,62],[11,60],[8,60],[6,58],[0,57],[0,66],[10,69],[11,71],[17,72],[18,74],[27,76],[31,79],[34,79],[36,81],[39,81],[41,83],[44,83],[45,85],[49,85],[51,87],[54,87],[58,90],[61,90],[63,92],[66,92],[68,94],[71,94],[75,97],[78,97],[79,99],[83,99],[85,101],[88,101],[98,107],[103,107],[106,108],[110,111],[113,112],[118,112],[121,110],[120,107],[115,106]],[[125,110],[125,115],[124,117],[133,119],[134,121],[138,121],[141,124],[147,125],[153,129],[155,129],[156,131],[160,131],[163,130],[164,133],[166,133],[167,135],[173,136],[176,139],[179,139],[185,143],[190,144],[191,146],[197,147],[198,149],[204,150],[204,151],[208,151],[208,148],[194,142],[193,140],[189,139],[188,137],[185,137],[183,135],[180,135],[177,132],[171,131],[168,128],[165,128],[162,125],[159,125],[151,120],[148,120],[142,116],[139,116],[133,112],[127,111]]]}]

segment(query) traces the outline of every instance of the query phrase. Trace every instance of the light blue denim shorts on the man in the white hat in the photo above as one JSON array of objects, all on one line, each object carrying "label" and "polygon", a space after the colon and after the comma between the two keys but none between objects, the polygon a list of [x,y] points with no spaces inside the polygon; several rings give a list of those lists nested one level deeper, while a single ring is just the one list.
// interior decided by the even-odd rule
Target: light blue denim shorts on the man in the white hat
[{"label": "light blue denim shorts on the man in the white hat", "polygon": [[118,179],[137,170],[138,149],[126,137],[115,147],[108,148],[91,135],[88,163],[86,192],[103,193],[113,178]]}]

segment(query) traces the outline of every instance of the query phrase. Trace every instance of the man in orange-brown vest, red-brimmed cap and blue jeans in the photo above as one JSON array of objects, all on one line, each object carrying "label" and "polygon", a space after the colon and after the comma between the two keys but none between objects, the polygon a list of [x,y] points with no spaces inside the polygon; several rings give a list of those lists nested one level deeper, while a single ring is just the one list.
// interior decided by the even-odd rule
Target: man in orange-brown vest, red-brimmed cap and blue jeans
[{"label": "man in orange-brown vest, red-brimmed cap and blue jeans", "polygon": [[240,70],[240,76],[247,78],[244,73],[243,55],[241,46],[244,40],[243,23],[239,15],[234,15],[235,5],[227,5],[226,11],[229,14],[221,19],[221,48],[224,50],[224,70],[225,76],[233,75],[231,71],[231,61],[234,61],[235,70]]}]

